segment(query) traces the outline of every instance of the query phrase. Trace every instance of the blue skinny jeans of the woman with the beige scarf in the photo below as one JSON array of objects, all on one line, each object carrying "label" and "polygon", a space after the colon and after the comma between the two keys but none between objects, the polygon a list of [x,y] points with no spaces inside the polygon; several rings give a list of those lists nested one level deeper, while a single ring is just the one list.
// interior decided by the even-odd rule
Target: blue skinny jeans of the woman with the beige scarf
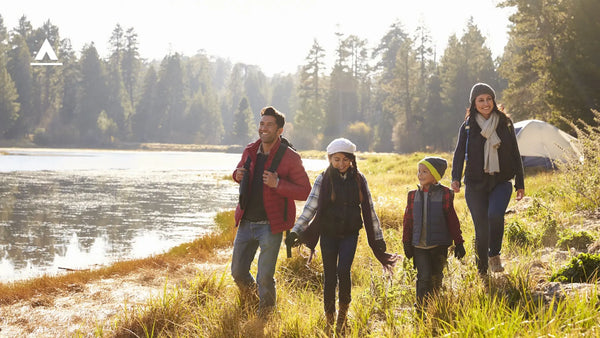
[{"label": "blue skinny jeans of the woman with the beige scarf", "polygon": [[502,182],[491,191],[472,189],[467,184],[465,200],[475,225],[477,269],[487,273],[488,257],[497,256],[504,236],[504,213],[510,202],[512,183]]}]

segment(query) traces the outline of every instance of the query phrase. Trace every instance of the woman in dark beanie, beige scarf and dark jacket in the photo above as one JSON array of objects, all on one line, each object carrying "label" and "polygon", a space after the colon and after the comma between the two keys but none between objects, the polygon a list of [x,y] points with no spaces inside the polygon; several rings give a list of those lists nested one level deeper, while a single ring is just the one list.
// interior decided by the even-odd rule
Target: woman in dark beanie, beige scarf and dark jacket
[{"label": "woman in dark beanie, beige scarf and dark jacket", "polygon": [[477,269],[487,274],[502,272],[500,260],[504,236],[504,213],[512,195],[516,200],[525,195],[523,164],[511,119],[496,105],[494,89],[485,83],[471,88],[471,106],[460,127],[452,160],[452,184],[460,191],[460,179],[465,183],[465,199],[475,225]]}]

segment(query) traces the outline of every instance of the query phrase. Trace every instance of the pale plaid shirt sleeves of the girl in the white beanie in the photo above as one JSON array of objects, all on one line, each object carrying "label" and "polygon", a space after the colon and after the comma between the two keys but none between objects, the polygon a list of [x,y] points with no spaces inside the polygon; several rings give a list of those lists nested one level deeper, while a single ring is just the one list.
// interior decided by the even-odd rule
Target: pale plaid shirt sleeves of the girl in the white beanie
[{"label": "pale plaid shirt sleeves of the girl in the white beanie", "polygon": [[[337,170],[331,167],[328,170],[337,172]],[[356,171],[355,174],[357,175],[357,184],[359,185],[361,195],[363,196],[360,201],[360,209],[369,246],[375,257],[384,267],[394,266],[398,256],[396,254],[386,253],[385,245],[377,245],[378,242],[381,243],[383,241],[383,233],[381,231],[379,219],[373,208],[373,200],[371,198],[367,180],[361,172]],[[351,179],[354,180],[355,178]],[[323,206],[328,204],[324,203],[324,200],[330,198],[330,196],[331,177],[329,176],[328,171],[325,171],[315,179],[314,186],[306,201],[302,215],[298,218],[292,229],[292,231],[298,233],[300,243],[305,244],[312,252],[314,252],[314,248],[319,241],[322,228],[324,227],[322,224],[324,218]]]}]

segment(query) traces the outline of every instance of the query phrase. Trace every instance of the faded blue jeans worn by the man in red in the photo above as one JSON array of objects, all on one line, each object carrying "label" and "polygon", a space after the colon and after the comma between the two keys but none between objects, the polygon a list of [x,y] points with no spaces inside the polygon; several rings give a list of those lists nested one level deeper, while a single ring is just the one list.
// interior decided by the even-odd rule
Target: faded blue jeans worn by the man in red
[{"label": "faded blue jeans worn by the man in red", "polygon": [[269,223],[251,223],[242,220],[233,242],[231,275],[240,288],[251,287],[255,280],[250,274],[250,265],[260,247],[256,283],[260,298],[259,309],[275,306],[275,265],[281,246],[282,233],[271,233]]}]

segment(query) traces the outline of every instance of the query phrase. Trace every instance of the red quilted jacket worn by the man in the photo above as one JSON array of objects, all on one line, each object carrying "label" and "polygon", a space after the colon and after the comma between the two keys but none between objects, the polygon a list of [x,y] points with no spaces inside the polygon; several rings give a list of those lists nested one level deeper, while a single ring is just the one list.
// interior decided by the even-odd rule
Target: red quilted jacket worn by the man
[{"label": "red quilted jacket worn by the man", "polygon": [[[261,140],[257,140],[254,143],[248,144],[244,152],[242,153],[242,159],[236,166],[241,168],[248,156],[252,159],[250,163],[250,181],[254,175],[254,166],[256,164],[256,153],[260,147]],[[277,149],[281,145],[281,140],[275,141],[275,144],[269,151],[269,157],[265,163],[265,168],[271,166],[273,157],[277,153]],[[233,179],[235,180],[235,172],[233,171]],[[265,211],[267,212],[267,218],[271,224],[271,232],[276,234],[285,230],[289,230],[294,226],[296,219],[296,204],[294,200],[305,201],[310,194],[310,181],[304,166],[302,166],[302,160],[300,155],[293,149],[288,148],[283,154],[283,158],[277,167],[277,175],[279,177],[279,184],[277,188],[269,188],[268,186],[263,187],[263,203],[265,205]],[[236,181],[238,182],[238,181]],[[238,182],[239,183],[239,182]],[[287,206],[285,198],[287,198]],[[287,211],[287,213],[284,212]],[[240,208],[238,204],[235,209],[235,225],[240,224],[240,220],[244,215],[244,210]]]}]

